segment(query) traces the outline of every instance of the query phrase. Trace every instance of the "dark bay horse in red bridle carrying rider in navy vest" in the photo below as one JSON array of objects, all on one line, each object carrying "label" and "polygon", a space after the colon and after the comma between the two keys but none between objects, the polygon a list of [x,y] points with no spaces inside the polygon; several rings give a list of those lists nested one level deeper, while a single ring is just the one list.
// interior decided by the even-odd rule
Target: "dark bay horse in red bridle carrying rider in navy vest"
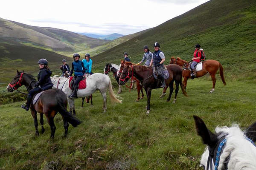
[{"label": "dark bay horse in red bridle carrying rider in navy vest", "polygon": [[[179,91],[179,85],[183,91],[183,95],[187,96],[186,91],[182,84],[182,69],[180,66],[175,64],[169,64],[166,65],[166,68],[169,72],[169,78],[166,79],[166,87],[170,87],[170,93],[169,97],[167,99],[167,102],[170,101],[172,92],[173,92],[173,82],[175,82],[176,88],[175,88],[175,97],[174,102],[176,102],[177,94]],[[150,97],[151,97],[151,90],[155,88],[160,88],[162,83],[160,82],[160,79],[155,79],[153,77],[153,70],[151,67],[142,66],[142,65],[132,65],[131,62],[125,62],[124,68],[122,70],[119,83],[121,85],[124,85],[125,82],[127,82],[128,79],[131,77],[136,77],[143,85],[143,88],[146,91],[147,94],[147,112],[146,114],[149,114],[150,112]]]}]

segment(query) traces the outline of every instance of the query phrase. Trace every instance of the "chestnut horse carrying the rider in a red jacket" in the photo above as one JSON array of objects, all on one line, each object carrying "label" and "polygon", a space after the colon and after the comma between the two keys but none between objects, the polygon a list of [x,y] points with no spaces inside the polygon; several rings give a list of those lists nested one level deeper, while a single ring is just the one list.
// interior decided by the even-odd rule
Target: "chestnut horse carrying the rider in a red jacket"
[{"label": "chestnut horse carrying the rider in a red jacket", "polygon": [[[183,69],[182,76],[184,77],[183,85],[186,89],[187,81],[189,78],[191,78],[191,71],[188,68],[189,62],[186,62],[185,60],[180,59],[180,57],[177,57],[177,59],[175,57],[171,57],[170,64],[177,64],[177,65],[180,65],[180,67],[182,67],[182,69]],[[208,59],[208,60],[204,61],[203,69],[196,73],[195,78],[198,78],[198,77],[204,76],[205,74],[207,74],[209,72],[209,74],[212,77],[212,90],[210,91],[210,93],[212,93],[214,91],[215,83],[216,83],[215,74],[218,71],[218,69],[220,69],[221,80],[222,80],[223,84],[226,85],[222,65],[220,62],[218,62],[216,60]]]}]

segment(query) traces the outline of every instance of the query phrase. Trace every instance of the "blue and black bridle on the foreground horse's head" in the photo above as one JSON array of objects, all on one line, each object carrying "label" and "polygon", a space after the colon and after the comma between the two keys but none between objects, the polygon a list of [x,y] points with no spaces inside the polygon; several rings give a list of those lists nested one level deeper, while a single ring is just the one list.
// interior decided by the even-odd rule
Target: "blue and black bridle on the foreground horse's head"
[{"label": "blue and black bridle on the foreground horse's head", "polygon": [[[215,169],[214,170],[218,170],[220,156],[221,156],[222,150],[223,150],[223,148],[224,148],[224,146],[225,146],[225,144],[227,142],[227,138],[225,138],[227,135],[228,135],[228,133],[221,133],[217,137],[218,140],[219,140],[219,145],[218,145],[217,155],[216,155],[216,159],[215,159],[215,164],[214,164]],[[247,138],[246,136],[244,138],[247,139],[248,141],[250,141],[256,147],[256,145],[254,144],[254,142],[251,139]],[[214,150],[216,149],[217,144],[215,145],[215,147],[213,149],[210,149],[210,147],[208,146],[209,156],[208,156],[208,159],[207,159],[207,166],[206,166],[207,168],[206,168],[206,170],[208,170],[209,167],[210,167],[210,170],[212,170],[212,162],[213,162],[213,157],[214,157]],[[227,160],[227,161],[225,161],[226,165],[228,164],[229,157],[230,156],[228,156],[226,158],[226,160]],[[227,166],[226,166],[226,168],[227,168]]]}]

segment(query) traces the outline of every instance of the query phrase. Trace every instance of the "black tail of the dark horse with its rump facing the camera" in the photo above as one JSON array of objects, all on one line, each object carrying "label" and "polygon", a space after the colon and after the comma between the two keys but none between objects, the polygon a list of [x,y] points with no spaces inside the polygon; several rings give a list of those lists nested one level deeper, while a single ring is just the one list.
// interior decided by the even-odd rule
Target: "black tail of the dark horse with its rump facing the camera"
[{"label": "black tail of the dark horse with its rump facing the camera", "polygon": [[61,116],[63,116],[63,119],[67,120],[67,122],[69,122],[73,127],[77,127],[77,125],[80,125],[81,121],[74,117],[70,112],[68,112],[67,108],[64,105],[64,99],[67,99],[66,95],[61,95],[57,93],[56,97],[58,102],[58,112],[61,114]]}]

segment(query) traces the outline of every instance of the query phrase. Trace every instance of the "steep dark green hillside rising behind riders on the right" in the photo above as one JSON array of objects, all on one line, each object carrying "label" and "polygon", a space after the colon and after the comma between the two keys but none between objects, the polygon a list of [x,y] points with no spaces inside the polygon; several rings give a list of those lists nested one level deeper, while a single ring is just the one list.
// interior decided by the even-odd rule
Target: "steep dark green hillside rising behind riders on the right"
[{"label": "steep dark green hillside rising behind riders on the right", "polygon": [[[256,76],[256,1],[211,0],[172,20],[152,28],[96,57],[96,67],[119,63],[127,51],[132,62],[142,59],[143,46],[153,50],[159,42],[166,56],[191,60],[194,45],[201,44],[207,59],[216,59],[230,76]],[[111,56],[111,57],[110,57]]]}]

